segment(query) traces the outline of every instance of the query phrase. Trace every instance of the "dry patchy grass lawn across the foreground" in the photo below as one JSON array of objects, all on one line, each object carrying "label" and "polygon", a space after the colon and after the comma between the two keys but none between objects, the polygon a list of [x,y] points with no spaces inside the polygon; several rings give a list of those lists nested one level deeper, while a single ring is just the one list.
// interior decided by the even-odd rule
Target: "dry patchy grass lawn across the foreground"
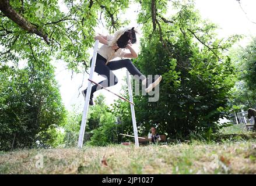
[{"label": "dry patchy grass lawn across the foreground", "polygon": [[1,152],[0,173],[256,174],[256,139]]}]

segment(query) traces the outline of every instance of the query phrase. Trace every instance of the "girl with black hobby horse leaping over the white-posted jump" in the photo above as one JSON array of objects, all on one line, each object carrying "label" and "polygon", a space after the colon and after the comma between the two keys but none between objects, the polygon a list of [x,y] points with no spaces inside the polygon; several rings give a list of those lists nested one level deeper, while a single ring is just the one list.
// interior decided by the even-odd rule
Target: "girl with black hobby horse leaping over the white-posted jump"
[{"label": "girl with black hobby horse leaping over the white-posted jump", "polygon": [[[118,30],[114,35],[97,35],[94,40],[99,40],[102,45],[97,51],[96,66],[95,71],[106,78],[106,80],[101,81],[99,84],[103,87],[110,87],[118,83],[118,79],[113,73],[113,70],[126,68],[132,76],[138,76],[142,80],[142,84],[146,85],[146,92],[152,91],[156,85],[162,80],[162,76],[156,79],[152,78],[148,80],[132,63],[131,59],[122,58],[137,58],[138,54],[132,48],[132,44],[136,43],[136,34],[138,30],[136,28],[125,28]],[[129,52],[124,52],[122,49],[128,49]],[[114,58],[121,58],[121,60],[112,60]],[[92,65],[92,59],[90,60],[90,65]],[[135,76],[135,77],[136,77]],[[100,87],[100,86],[99,86]],[[90,95],[90,105],[93,105],[93,93],[100,90],[98,85],[92,86],[92,92]],[[86,96],[86,90],[82,91],[83,96]]]}]

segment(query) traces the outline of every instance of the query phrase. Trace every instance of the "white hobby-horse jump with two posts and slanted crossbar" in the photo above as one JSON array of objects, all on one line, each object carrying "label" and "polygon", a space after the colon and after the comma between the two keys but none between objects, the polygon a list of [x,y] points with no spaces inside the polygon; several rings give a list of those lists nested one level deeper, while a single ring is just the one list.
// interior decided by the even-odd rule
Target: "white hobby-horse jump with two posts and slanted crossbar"
[{"label": "white hobby-horse jump with two posts and slanted crossbar", "polygon": [[[80,126],[79,139],[78,139],[78,148],[82,148],[82,146],[83,146],[83,137],[85,135],[85,126],[86,126],[86,120],[87,120],[87,113],[89,110],[89,99],[90,99],[90,93],[92,91],[92,84],[93,83],[97,84],[96,82],[93,81],[93,72],[94,72],[95,64],[96,64],[98,45],[99,45],[99,40],[96,40],[95,45],[94,45],[94,50],[93,50],[92,65],[90,67],[90,76],[88,79],[88,86],[87,86],[86,97],[85,97],[85,106],[83,108],[82,123]],[[110,90],[103,87],[102,85],[100,85],[100,84],[97,84],[97,85],[100,85],[104,90],[107,90],[108,92],[111,92],[112,94],[117,95],[119,98],[123,99],[124,101],[127,101],[130,103],[131,113],[132,113],[132,126],[134,128],[135,146],[139,146],[138,131],[137,131],[136,119],[135,119],[134,102],[133,102],[133,98],[132,98],[131,80],[129,78],[128,71],[127,71],[127,84],[128,84],[128,92],[129,92],[129,101],[127,99],[125,99],[124,97],[117,95],[114,92],[111,92]]]}]

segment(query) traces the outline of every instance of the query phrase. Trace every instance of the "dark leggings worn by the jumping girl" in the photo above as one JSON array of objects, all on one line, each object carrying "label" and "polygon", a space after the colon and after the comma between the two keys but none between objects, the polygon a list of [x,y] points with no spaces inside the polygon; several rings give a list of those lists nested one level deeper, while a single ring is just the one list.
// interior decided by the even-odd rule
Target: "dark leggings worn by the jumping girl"
[{"label": "dark leggings worn by the jumping girl", "polygon": [[[96,71],[96,73],[106,78],[106,80],[103,80],[99,83],[103,87],[110,87],[117,84],[118,78],[115,76],[115,74],[111,70],[117,70],[123,67],[127,68],[129,73],[131,73],[133,76],[137,75],[139,77],[142,77],[142,80],[146,78],[134,66],[134,64],[132,64],[131,59],[114,60],[114,61],[108,62],[108,64],[105,65],[106,62],[107,62],[107,59],[103,58],[103,56],[97,53],[96,66],[94,71]],[[92,65],[92,59],[90,60],[90,66],[91,65]],[[93,85],[91,94],[93,94],[94,92],[100,89],[102,89],[102,87],[98,87],[98,85]]]}]

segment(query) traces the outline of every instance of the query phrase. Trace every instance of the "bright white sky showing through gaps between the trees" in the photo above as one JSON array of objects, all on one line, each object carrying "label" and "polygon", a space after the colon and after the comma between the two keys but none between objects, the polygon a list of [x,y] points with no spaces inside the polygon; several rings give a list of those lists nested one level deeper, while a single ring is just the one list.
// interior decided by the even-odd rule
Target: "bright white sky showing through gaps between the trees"
[{"label": "bright white sky showing through gaps between the trees", "polygon": [[[209,19],[219,26],[219,29],[216,30],[219,37],[229,37],[232,34],[246,35],[246,37],[239,42],[239,45],[245,46],[250,42],[250,37],[256,35],[256,1],[241,0],[240,2],[241,6],[236,0],[195,0],[195,8],[201,13],[202,19]],[[138,5],[133,5],[125,13],[131,20],[131,23],[128,26],[138,27],[138,24],[136,23],[136,13],[131,13],[136,12],[137,10]],[[97,32],[108,34],[107,30],[104,30],[104,28],[101,27],[96,28],[96,33]],[[136,50],[138,51],[138,46],[136,47]],[[90,53],[93,53],[93,49],[90,50]],[[70,70],[65,70],[66,67],[64,62],[57,61],[55,62],[55,65],[57,66],[55,77],[59,83],[62,101],[64,102],[66,109],[71,111],[73,109],[72,105],[76,105],[76,108],[82,110],[85,101],[83,95],[79,95],[79,92],[87,88],[87,78],[89,78],[89,75],[85,74],[85,80],[83,81],[83,74],[74,73],[72,76]],[[118,77],[119,81],[117,85],[108,87],[108,89],[116,94],[120,94],[122,92],[122,85],[125,84],[125,81],[122,80],[125,78],[126,69],[119,69],[113,72]],[[93,80],[100,82],[101,80],[104,80],[104,78],[98,76],[97,73],[93,73]],[[82,88],[79,89],[81,85]],[[106,96],[107,105],[110,105],[115,99],[118,99],[117,96],[105,90],[95,92],[94,98],[99,94]]]}]

